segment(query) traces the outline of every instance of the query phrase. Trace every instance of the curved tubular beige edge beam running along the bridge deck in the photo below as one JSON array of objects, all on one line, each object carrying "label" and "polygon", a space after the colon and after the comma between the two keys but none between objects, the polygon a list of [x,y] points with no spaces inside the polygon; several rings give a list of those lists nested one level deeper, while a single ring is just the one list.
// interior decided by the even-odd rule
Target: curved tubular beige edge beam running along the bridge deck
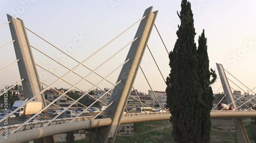
[{"label": "curved tubular beige edge beam running along the bridge deck", "polygon": [[[120,124],[129,124],[129,123],[140,123],[140,122],[150,122],[150,121],[164,121],[164,120],[169,120],[170,119],[170,114],[162,114],[161,112],[158,113],[156,112],[155,114],[151,115],[145,115],[145,113],[131,113],[131,116],[126,116],[124,115],[121,119]],[[211,111],[210,113],[211,119],[218,119],[218,118],[251,118],[251,117],[256,117],[256,111]],[[90,119],[92,119],[91,117]],[[62,132],[69,132],[69,131],[74,131],[74,130],[80,130],[80,129],[89,129],[89,128],[96,128],[96,127],[103,127],[103,126],[108,126],[110,125],[111,119],[110,118],[105,118],[105,119],[95,119],[95,120],[86,120],[82,121],[84,119],[80,118],[81,121],[77,122],[72,122],[68,123],[70,119],[57,119],[56,121],[60,122],[61,124],[57,123],[57,125],[49,125],[47,127],[41,127],[40,125],[42,123],[33,123],[35,124],[35,127],[38,128],[33,128],[33,129],[28,129],[25,131],[18,131],[13,133],[13,135],[9,134],[8,135],[8,142],[16,142],[17,140],[22,140],[25,141],[24,139],[26,138],[27,141],[35,139],[35,138],[40,138],[38,137],[38,131],[40,131],[40,136],[45,137],[45,136],[50,136],[54,134],[59,134]],[[79,120],[80,120],[79,119]],[[66,120],[66,121],[65,121]],[[88,123],[90,121],[93,121],[94,123],[89,126]],[[63,123],[65,122],[65,123]],[[97,125],[97,122],[99,122],[99,126]],[[37,126],[38,124],[39,126]],[[74,124],[74,125],[73,125]],[[29,125],[29,124],[28,124]],[[31,124],[32,125],[32,124]],[[79,125],[79,126],[78,126]],[[8,126],[9,130],[12,130],[15,125]],[[18,126],[18,125],[16,125]],[[57,126],[57,127],[54,127]],[[62,129],[60,129],[62,128]],[[0,127],[0,133],[3,134],[3,129],[4,127]],[[31,130],[31,131],[29,131]],[[35,134],[33,133],[35,130]],[[50,132],[49,132],[50,130]],[[22,133],[23,132],[23,133]],[[27,134],[30,133],[31,135],[28,136]],[[29,138],[30,137],[30,138]],[[4,140],[4,136],[0,136],[0,140]],[[4,142],[3,142],[4,143]]]}]

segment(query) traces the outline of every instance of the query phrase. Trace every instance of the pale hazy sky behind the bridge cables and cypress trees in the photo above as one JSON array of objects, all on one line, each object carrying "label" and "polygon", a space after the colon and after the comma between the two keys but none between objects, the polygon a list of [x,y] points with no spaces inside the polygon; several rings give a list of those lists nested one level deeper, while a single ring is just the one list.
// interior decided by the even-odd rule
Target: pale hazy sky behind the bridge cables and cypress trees
[{"label": "pale hazy sky behind the bridge cables and cypress trees", "polygon": [[[216,63],[223,64],[230,73],[240,79],[248,88],[255,88],[256,1],[195,0],[190,2],[193,8],[197,33],[195,42],[198,43],[198,36],[204,29],[208,39],[210,67],[215,69]],[[6,22],[6,14],[21,18],[24,20],[26,27],[49,40],[60,49],[65,50],[76,60],[82,62],[126,30],[126,28],[138,21],[142,17],[144,10],[151,6],[154,7],[154,11],[159,11],[155,23],[168,51],[172,50],[177,39],[177,25],[180,23],[177,16],[177,11],[181,10],[180,4],[181,1],[0,0],[0,24]],[[124,45],[133,40],[137,27],[138,24],[122,37],[118,38],[113,44],[102,50],[102,52],[95,55],[85,65],[92,69],[97,68],[104,60],[108,59]],[[47,53],[70,69],[78,65],[78,63],[59,53],[55,48],[40,40],[35,35],[30,32],[27,33],[31,45],[40,49],[42,52]],[[12,41],[8,25],[0,27],[0,37],[0,46]],[[79,44],[76,44],[75,48],[71,49],[70,46],[72,44],[74,45],[73,41],[79,39]],[[166,78],[170,72],[168,66],[169,59],[155,28],[148,41],[148,46],[150,46],[164,78]],[[124,62],[129,48],[130,45],[96,72],[102,76],[108,75]],[[67,69],[61,66],[52,66],[51,60],[38,51],[34,49],[32,51],[35,62],[38,65],[47,67],[58,76],[62,76],[68,72]],[[3,69],[16,60],[13,45],[0,49],[0,53],[0,69]],[[147,49],[144,53],[142,68],[153,90],[165,91],[166,85]],[[47,77],[45,77],[46,72],[40,67],[37,67],[37,69],[42,82],[51,84],[57,79],[50,74],[47,74]],[[83,67],[75,71],[83,77],[90,73],[89,70]],[[115,72],[108,79],[115,83],[119,71]],[[232,81],[236,81],[228,74],[227,76]],[[11,85],[19,81],[20,77],[17,64],[2,71],[0,77],[0,89],[3,89],[4,85]],[[73,84],[80,80],[74,74],[70,74],[65,79]],[[96,84],[101,78],[91,75],[88,80]],[[238,81],[236,83],[239,84]],[[214,92],[217,92],[220,86],[220,80],[212,85]],[[230,86],[236,90],[240,90],[232,83],[230,83]],[[70,88],[71,85],[60,81],[55,87]],[[84,81],[78,87],[83,91],[88,91],[93,85]],[[111,88],[112,85],[104,81],[99,84],[99,87],[102,89],[106,87]],[[150,90],[141,71],[138,72],[134,88],[146,93]],[[245,91],[247,90],[245,87],[242,88]]]}]

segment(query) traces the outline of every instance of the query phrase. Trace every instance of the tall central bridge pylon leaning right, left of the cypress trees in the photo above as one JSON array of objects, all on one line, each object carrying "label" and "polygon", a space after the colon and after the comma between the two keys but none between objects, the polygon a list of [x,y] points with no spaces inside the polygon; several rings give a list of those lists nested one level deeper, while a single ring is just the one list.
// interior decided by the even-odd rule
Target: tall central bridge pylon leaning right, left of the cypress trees
[{"label": "tall central bridge pylon leaning right, left of the cypress trees", "polygon": [[114,103],[105,110],[105,115],[102,117],[111,118],[112,123],[107,127],[98,129],[95,139],[95,142],[97,143],[115,141],[117,130],[120,125],[120,120],[132,90],[132,86],[158,12],[152,12],[152,10],[153,7],[150,7],[144,12],[143,16],[146,17],[141,20],[135,35],[135,38],[138,37],[138,39],[132,43],[131,48],[126,56],[126,60],[130,59],[130,61],[123,65],[117,79],[117,82],[120,80],[122,81],[113,89],[113,93],[109,101],[109,103],[112,101],[114,101]]}]

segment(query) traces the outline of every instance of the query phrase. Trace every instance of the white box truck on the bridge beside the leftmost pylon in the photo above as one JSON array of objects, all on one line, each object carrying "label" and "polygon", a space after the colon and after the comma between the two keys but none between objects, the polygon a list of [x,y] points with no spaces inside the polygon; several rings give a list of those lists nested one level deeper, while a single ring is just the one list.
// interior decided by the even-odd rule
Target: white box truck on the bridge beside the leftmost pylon
[{"label": "white box truck on the bridge beside the leftmost pylon", "polygon": [[[11,110],[15,110],[16,108],[22,106],[27,101],[15,101],[12,105]],[[30,116],[34,113],[37,113],[42,109],[42,102],[38,101],[30,101],[28,104],[24,105],[22,108],[17,110],[14,115],[16,116]]]}]

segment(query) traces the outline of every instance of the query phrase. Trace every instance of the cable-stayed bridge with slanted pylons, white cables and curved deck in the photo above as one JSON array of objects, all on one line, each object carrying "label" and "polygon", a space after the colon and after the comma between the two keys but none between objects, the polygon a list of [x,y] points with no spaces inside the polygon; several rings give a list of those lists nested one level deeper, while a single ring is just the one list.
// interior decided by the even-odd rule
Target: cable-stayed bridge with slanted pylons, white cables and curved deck
[{"label": "cable-stayed bridge with slanted pylons, white cables and curved deck", "polygon": [[[143,66],[141,65],[143,54],[145,50],[148,50],[152,56],[152,59],[156,65],[156,67],[159,71],[160,78],[163,79],[163,83],[165,83],[165,77],[162,74],[158,64],[157,59],[154,58],[154,54],[152,53],[152,50],[150,49],[150,46],[148,46],[148,41],[150,40],[150,35],[155,28],[157,30],[157,33],[165,47],[166,50],[166,56],[168,54],[168,50],[163,42],[163,39],[160,35],[160,32],[157,29],[157,26],[155,24],[156,16],[158,11],[152,12],[153,7],[150,7],[145,10],[143,16],[141,19],[139,19],[137,22],[135,22],[133,25],[131,25],[129,28],[127,28],[124,32],[119,34],[116,38],[111,40],[109,43],[105,44],[103,47],[101,47],[99,50],[95,51],[92,55],[85,58],[82,62],[78,61],[75,57],[71,56],[65,51],[62,51],[58,46],[55,44],[49,42],[44,37],[41,37],[38,35],[34,30],[31,30],[29,27],[25,26],[25,23],[22,19],[13,18],[12,16],[8,15],[8,22],[0,25],[0,28],[6,26],[9,24],[12,40],[9,42],[6,42],[3,44],[2,48],[11,48],[10,45],[13,44],[15,54],[16,54],[16,60],[12,62],[9,65],[6,65],[3,69],[0,70],[0,72],[4,70],[8,70],[8,68],[12,65],[18,65],[20,80],[16,82],[16,84],[9,87],[7,90],[12,89],[15,87],[15,85],[22,83],[24,88],[25,97],[28,98],[27,102],[23,104],[22,106],[14,109],[11,113],[8,114],[8,116],[12,115],[16,111],[18,111],[20,108],[25,106],[31,101],[39,101],[42,102],[42,109],[38,111],[32,118],[29,120],[26,120],[24,123],[16,124],[16,125],[8,125],[8,126],[2,126],[0,128],[1,133],[1,142],[24,142],[29,140],[37,139],[39,141],[42,139],[45,142],[54,142],[53,135],[59,134],[63,132],[69,132],[69,131],[75,131],[80,129],[90,129],[90,128],[99,128],[99,131],[97,133],[97,140],[96,142],[114,142],[115,136],[117,134],[117,130],[120,124],[127,124],[127,123],[136,123],[136,122],[147,122],[147,121],[162,121],[162,120],[169,120],[170,113],[164,111],[162,106],[160,105],[160,101],[153,92],[154,89],[152,88],[151,82],[149,78],[146,76],[146,71],[143,70]],[[87,66],[87,62],[90,62],[93,58],[95,58],[100,52],[104,51],[104,49],[107,49],[115,40],[117,40],[119,37],[124,35],[127,31],[130,30],[133,26],[135,26],[137,23],[140,23],[138,26],[137,33],[135,34],[135,37],[130,40],[129,43],[125,43],[121,49],[119,49],[117,52],[115,52],[113,55],[110,56],[110,58],[106,59],[102,63],[98,61],[94,61],[94,63],[99,64],[95,68],[91,68]],[[62,55],[65,55],[65,57],[68,57],[72,60],[72,62],[76,63],[73,65],[73,67],[68,63],[63,63],[61,60],[59,60],[56,57],[52,57],[48,52],[40,50],[41,48],[34,46],[33,44],[30,44],[28,33],[38,37],[41,41],[44,41],[45,44],[51,45],[51,47],[54,50],[57,50]],[[152,40],[152,39],[151,39]],[[74,41],[74,45],[78,44],[77,41]],[[39,45],[40,46],[40,45]],[[118,56],[123,50],[125,50],[127,47],[130,46],[130,49],[128,51],[127,56],[124,61],[121,61],[119,65],[117,65],[114,69],[113,67],[105,67],[105,69],[101,69],[106,65],[108,62],[113,62],[113,59],[115,56]],[[72,45],[70,46],[72,48]],[[33,52],[32,52],[33,51]],[[34,51],[37,51],[39,53],[40,59],[37,61]],[[42,56],[44,55],[44,56]],[[81,54],[82,55],[82,54]],[[123,55],[121,55],[123,56]],[[104,57],[99,56],[97,59],[103,59]],[[40,65],[41,61],[54,61],[55,64],[58,64],[59,66],[62,66],[62,69],[65,69],[65,72],[57,72],[54,73],[51,68],[45,68],[43,65]],[[99,60],[100,61],[100,60]],[[119,60],[120,61],[120,60]],[[87,75],[81,74],[78,69],[83,69],[84,71],[87,71]],[[221,80],[223,91],[225,93],[225,96],[222,99],[226,99],[228,105],[233,106],[235,109],[240,109],[243,106],[247,106],[248,109],[251,109],[255,102],[253,102],[254,97],[249,94],[249,92],[252,92],[252,90],[248,89],[246,86],[246,90],[241,89],[242,91],[247,91],[244,95],[240,95],[239,97],[233,96],[231,89],[234,90],[232,87],[230,87],[229,82],[231,81],[227,78],[225,69],[221,64],[217,64],[218,72],[219,72],[219,79]],[[216,69],[217,69],[216,68]],[[44,74],[39,74],[38,71],[43,70],[47,74],[51,74],[53,76],[53,81],[48,83],[48,81],[44,80],[41,76]],[[103,71],[103,72],[102,72]],[[112,82],[109,80],[111,76],[113,76],[114,72],[119,71],[119,76],[116,78],[116,82]],[[142,108],[146,107],[147,105],[142,102],[139,98],[139,95],[136,93],[135,96],[130,95],[131,90],[134,90],[136,88],[133,87],[134,82],[136,81],[136,76],[138,72],[142,73],[142,76],[145,78],[146,83],[148,84],[148,87],[150,87],[150,90],[154,94],[154,98],[156,99],[156,103],[161,108],[160,112],[141,112],[141,113],[129,113],[129,111],[126,109],[127,107],[127,101],[129,100],[129,97],[133,98],[134,100],[138,101]],[[106,72],[107,74],[105,74]],[[226,71],[227,72],[227,71]],[[60,74],[61,73],[61,74]],[[228,73],[228,72],[227,72]],[[1,73],[0,73],[1,74]],[[230,74],[230,73],[228,73]],[[95,83],[94,80],[92,80],[90,77],[98,76],[99,80]],[[68,78],[68,76],[71,76],[71,78]],[[78,78],[75,83],[73,81],[70,81],[74,76]],[[230,74],[230,76],[234,77]],[[55,79],[55,80],[54,80]],[[218,80],[219,80],[218,79]],[[56,85],[58,82],[65,82],[68,84],[71,88],[69,88],[64,93],[59,93],[60,95],[55,98],[54,100],[48,101],[45,99],[44,92],[52,89],[58,92],[56,89],[54,89],[54,85]],[[92,88],[84,92],[81,87],[79,87],[79,84],[83,82],[88,82],[92,84]],[[103,93],[99,98],[95,98],[94,96],[90,95],[89,92],[92,91],[95,88],[98,88],[102,91],[103,88],[100,86],[102,82],[106,82],[111,85],[111,88]],[[220,82],[220,81],[218,81]],[[231,81],[232,83],[236,84],[238,81]],[[44,85],[46,88],[42,88],[41,85]],[[245,84],[243,84],[245,85]],[[72,104],[70,104],[67,108],[63,109],[59,115],[56,115],[50,120],[46,121],[40,121],[35,123],[29,123],[30,120],[32,120],[34,117],[36,117],[39,113],[44,112],[47,110],[51,105],[54,105],[55,102],[62,97],[67,97],[67,93],[71,90],[79,90],[82,94],[80,97],[76,100],[73,100]],[[248,92],[249,90],[249,92]],[[110,91],[112,91],[110,93]],[[218,92],[218,91],[217,91]],[[104,103],[101,101],[101,98],[104,96],[110,95],[109,103]],[[216,95],[216,94],[215,94]],[[215,96],[214,95],[214,96]],[[255,93],[254,93],[255,95]],[[5,93],[2,93],[1,96],[5,96]],[[72,105],[74,104],[81,104],[79,103],[79,100],[82,99],[84,96],[90,96],[91,98],[95,99],[95,102],[101,102],[103,105],[106,106],[105,109],[101,110],[100,112],[97,112],[93,116],[82,116],[82,112],[78,113],[76,117],[73,118],[60,118],[63,113],[65,113],[66,110],[68,110]],[[251,98],[245,98],[246,96],[250,96]],[[244,100],[247,99],[247,100]],[[237,104],[237,102],[241,102],[240,105]],[[86,109],[89,109],[93,106],[92,103],[89,106],[81,105],[85,107]],[[219,103],[222,103],[222,100],[220,100]],[[249,104],[248,104],[249,103]],[[57,106],[57,105],[55,105]],[[59,106],[57,106],[59,107]],[[123,112],[126,111],[125,114]],[[101,115],[101,118],[99,119],[99,115]],[[246,130],[244,128],[243,122],[241,118],[250,118],[250,117],[256,117],[256,112],[254,110],[232,110],[232,111],[226,111],[226,110],[218,110],[218,111],[212,111],[211,112],[211,118],[232,118],[232,122],[234,125],[236,125],[238,128],[238,138],[240,142],[249,142]],[[8,118],[3,118],[0,120],[0,122],[5,123]],[[7,133],[7,134],[6,134]],[[8,139],[5,139],[5,136],[8,136]],[[47,140],[47,141],[46,141]],[[36,141],[35,141],[36,142]]]}]

